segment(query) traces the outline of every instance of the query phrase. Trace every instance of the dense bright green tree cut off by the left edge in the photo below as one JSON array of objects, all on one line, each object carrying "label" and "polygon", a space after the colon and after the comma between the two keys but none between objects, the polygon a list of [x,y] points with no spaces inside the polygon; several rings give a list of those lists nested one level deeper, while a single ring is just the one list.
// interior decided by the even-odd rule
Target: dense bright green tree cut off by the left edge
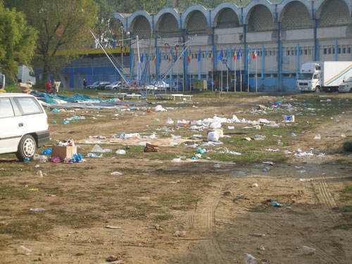
[{"label": "dense bright green tree cut off by the left edge", "polygon": [[15,82],[18,63],[29,65],[34,56],[37,30],[28,27],[23,13],[4,8],[0,1],[0,71]]}]

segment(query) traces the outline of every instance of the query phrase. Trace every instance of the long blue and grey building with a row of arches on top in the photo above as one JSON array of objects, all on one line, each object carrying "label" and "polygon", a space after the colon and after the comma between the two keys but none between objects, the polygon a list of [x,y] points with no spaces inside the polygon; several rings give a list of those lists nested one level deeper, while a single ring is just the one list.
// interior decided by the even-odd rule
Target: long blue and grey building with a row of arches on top
[{"label": "long blue and grey building with a row of arches on top", "polygon": [[[140,56],[146,58],[142,68],[154,79],[166,73],[189,89],[190,80],[213,76],[226,89],[227,80],[233,84],[241,73],[252,87],[257,80],[258,91],[292,92],[302,63],[352,61],[351,14],[352,0],[253,0],[246,6],[222,3],[214,9],[164,8],[157,14],[137,11],[114,17],[132,38],[138,35]],[[237,54],[241,49],[236,61],[234,49]],[[137,44],[132,42],[132,77],[137,61]]]}]

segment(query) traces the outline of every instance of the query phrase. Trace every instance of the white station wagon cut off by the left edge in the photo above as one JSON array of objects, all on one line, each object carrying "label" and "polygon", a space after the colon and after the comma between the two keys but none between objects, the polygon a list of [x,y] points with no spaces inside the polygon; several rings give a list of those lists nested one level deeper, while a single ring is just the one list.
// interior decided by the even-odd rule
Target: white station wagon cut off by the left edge
[{"label": "white station wagon cut off by the left edge", "polygon": [[49,142],[44,108],[30,94],[0,94],[0,154],[32,159],[37,146]]}]

